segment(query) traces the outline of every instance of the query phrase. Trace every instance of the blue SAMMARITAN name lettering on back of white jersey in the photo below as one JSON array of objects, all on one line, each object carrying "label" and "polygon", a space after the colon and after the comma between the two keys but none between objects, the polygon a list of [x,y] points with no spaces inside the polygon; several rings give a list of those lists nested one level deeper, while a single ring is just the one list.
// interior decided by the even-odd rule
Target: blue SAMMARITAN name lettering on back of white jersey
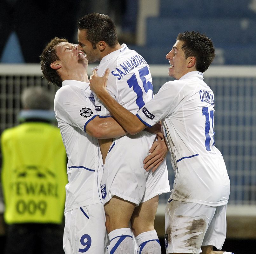
[{"label": "blue SAMMARITAN name lettering on back of white jersey", "polygon": [[115,70],[111,71],[111,74],[117,77],[120,80],[126,74],[130,73],[134,68],[140,65],[147,65],[147,62],[141,55],[136,55],[131,58],[128,58],[122,64],[120,64]]}]

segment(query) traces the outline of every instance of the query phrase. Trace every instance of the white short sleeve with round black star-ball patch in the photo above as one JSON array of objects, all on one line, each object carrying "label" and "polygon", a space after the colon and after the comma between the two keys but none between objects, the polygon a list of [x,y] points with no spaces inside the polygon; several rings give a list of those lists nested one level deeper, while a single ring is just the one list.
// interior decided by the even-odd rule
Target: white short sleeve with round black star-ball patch
[{"label": "white short sleeve with round black star-ball patch", "polygon": [[63,86],[57,91],[54,111],[59,124],[65,122],[84,131],[86,125],[97,116],[84,90],[75,86]]}]

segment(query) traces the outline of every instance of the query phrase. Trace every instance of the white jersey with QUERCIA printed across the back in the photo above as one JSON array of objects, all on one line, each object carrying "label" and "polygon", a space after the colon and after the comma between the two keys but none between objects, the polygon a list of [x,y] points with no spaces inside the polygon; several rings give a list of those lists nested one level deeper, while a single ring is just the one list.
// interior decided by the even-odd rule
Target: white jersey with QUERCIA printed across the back
[{"label": "white jersey with QUERCIA printed across the back", "polygon": [[175,172],[171,199],[208,206],[227,203],[229,177],[213,138],[214,95],[203,73],[192,71],[165,83],[137,116],[148,126],[164,119]]}]

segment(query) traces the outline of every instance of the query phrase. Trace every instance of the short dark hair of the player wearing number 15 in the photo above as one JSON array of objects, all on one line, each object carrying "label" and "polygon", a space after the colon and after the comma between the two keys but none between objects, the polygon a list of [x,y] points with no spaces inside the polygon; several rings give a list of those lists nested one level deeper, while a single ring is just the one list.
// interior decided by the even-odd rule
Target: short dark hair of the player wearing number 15
[{"label": "short dark hair of the player wearing number 15", "polygon": [[99,41],[104,41],[110,47],[118,44],[115,24],[108,15],[90,13],[80,18],[77,26],[79,30],[86,30],[85,39],[91,42],[94,49]]}]

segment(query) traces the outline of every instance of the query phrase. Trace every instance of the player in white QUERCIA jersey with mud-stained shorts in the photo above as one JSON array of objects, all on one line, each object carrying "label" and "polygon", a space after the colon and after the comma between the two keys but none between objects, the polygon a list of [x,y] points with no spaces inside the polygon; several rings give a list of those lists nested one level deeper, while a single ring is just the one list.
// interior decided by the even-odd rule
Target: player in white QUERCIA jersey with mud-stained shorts
[{"label": "player in white QUERCIA jersey with mud-stained shorts", "polygon": [[[214,146],[214,94],[203,81],[215,56],[212,41],[199,32],[177,37],[169,60],[169,76],[155,95],[138,110],[137,117],[118,104],[106,89],[104,77],[93,71],[91,89],[111,115],[135,135],[163,120],[166,142],[175,172],[173,190],[165,210],[166,253],[227,254],[226,204],[230,182],[220,151]],[[108,82],[109,85],[109,82]]]}]

